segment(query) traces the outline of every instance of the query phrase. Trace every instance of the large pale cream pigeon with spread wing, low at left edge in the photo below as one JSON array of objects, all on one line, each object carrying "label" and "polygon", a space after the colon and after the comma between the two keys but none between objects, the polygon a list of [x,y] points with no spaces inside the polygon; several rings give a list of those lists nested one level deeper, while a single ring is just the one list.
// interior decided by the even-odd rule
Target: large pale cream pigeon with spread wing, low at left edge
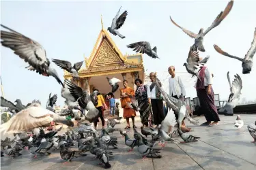
[{"label": "large pale cream pigeon with spread wing, low at left edge", "polygon": [[48,109],[44,109],[40,104],[34,103],[30,107],[18,112],[10,118],[8,122],[0,125],[0,132],[3,133],[20,133],[29,131],[38,127],[48,127],[51,122],[60,122],[68,126],[74,126],[70,120],[62,118]]}]

